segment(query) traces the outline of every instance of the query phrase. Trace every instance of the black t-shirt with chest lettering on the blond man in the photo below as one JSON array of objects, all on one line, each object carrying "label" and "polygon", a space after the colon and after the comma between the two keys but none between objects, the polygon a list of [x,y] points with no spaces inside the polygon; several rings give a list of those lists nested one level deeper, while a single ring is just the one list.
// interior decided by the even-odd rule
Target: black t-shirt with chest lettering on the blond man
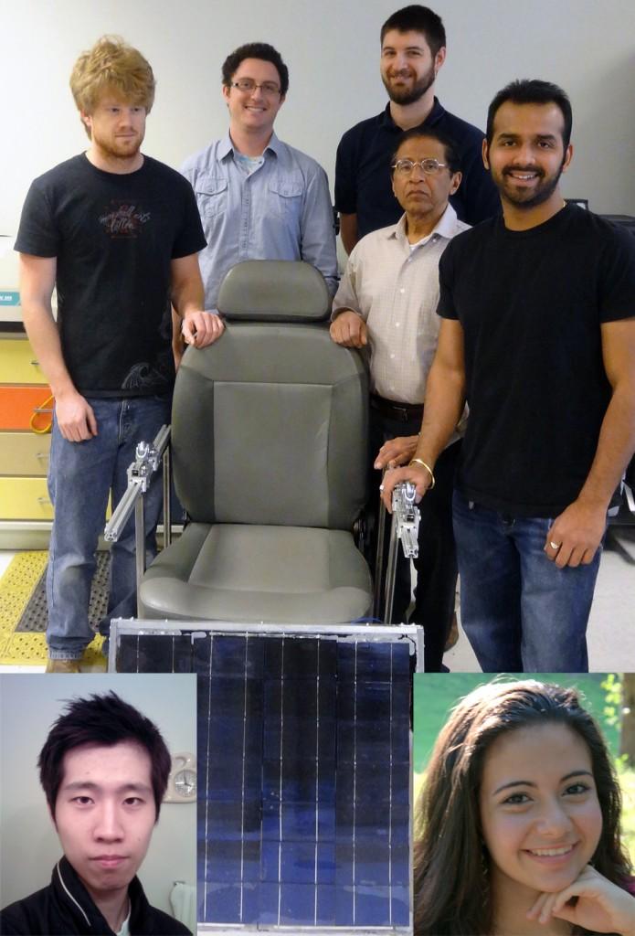
[{"label": "black t-shirt with chest lettering on the blond man", "polygon": [[119,175],[81,154],[32,183],[15,249],[57,258],[57,323],[80,393],[171,389],[170,261],[205,244],[192,186],[149,156]]}]

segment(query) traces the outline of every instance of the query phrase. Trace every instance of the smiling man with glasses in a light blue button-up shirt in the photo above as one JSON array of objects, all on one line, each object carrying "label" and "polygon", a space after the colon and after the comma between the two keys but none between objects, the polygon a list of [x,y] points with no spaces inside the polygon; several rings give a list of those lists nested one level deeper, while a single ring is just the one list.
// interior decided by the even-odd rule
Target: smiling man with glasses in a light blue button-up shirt
[{"label": "smiling man with glasses in a light blue button-up shirt", "polygon": [[205,307],[241,260],[306,260],[337,286],[333,210],[325,170],[273,132],[289,72],[272,46],[252,42],[223,65],[229,132],[181,167],[208,241],[199,256]]}]

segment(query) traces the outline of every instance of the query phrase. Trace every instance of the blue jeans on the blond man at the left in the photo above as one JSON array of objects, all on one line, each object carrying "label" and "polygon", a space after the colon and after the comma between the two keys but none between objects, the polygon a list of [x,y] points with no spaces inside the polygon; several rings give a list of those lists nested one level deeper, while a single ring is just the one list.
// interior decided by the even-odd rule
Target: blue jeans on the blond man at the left
[{"label": "blue jeans on the blond man at the left", "polygon": [[[113,508],[127,487],[126,469],[135,461],[141,440],[152,442],[169,422],[167,397],[129,400],[90,398],[97,435],[85,442],[67,442],[53,421],[49,493],[55,508],[51,532],[47,599],[47,642],[52,660],[79,659],[94,637],[88,622],[95,550],[106,522],[108,493]],[[161,471],[152,477],[145,495],[146,549],[156,554],[156,523],[162,506]],[[119,542],[110,549],[108,617],[137,613],[135,516],[126,523]]]}]

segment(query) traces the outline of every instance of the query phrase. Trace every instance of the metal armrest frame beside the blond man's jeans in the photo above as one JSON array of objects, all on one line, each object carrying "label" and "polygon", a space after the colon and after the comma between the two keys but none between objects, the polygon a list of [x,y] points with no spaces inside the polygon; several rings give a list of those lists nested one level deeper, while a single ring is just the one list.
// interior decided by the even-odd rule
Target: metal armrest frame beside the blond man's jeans
[{"label": "metal armrest frame beside the blond man's jeans", "polygon": [[116,543],[122,535],[133,510],[135,511],[135,552],[137,556],[137,587],[146,571],[146,535],[143,509],[143,495],[150,486],[152,475],[163,461],[163,523],[164,545],[169,546],[172,539],[172,518],[170,512],[170,427],[162,426],[156,433],[152,445],[139,442],[136,461],[128,467],[128,487],[112,517],[106,524],[104,536],[110,543]]}]

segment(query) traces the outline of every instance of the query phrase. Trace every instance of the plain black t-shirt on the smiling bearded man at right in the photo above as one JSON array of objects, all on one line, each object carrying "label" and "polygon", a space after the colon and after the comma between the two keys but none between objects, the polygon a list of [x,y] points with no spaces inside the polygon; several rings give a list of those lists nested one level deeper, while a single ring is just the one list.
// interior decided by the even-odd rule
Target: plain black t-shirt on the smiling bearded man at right
[{"label": "plain black t-shirt on the smiling bearded man at right", "polygon": [[503,513],[556,517],[598,446],[611,399],[600,324],[635,314],[635,241],[572,205],[527,231],[485,221],[441,256],[438,311],[465,335],[459,490]]}]

